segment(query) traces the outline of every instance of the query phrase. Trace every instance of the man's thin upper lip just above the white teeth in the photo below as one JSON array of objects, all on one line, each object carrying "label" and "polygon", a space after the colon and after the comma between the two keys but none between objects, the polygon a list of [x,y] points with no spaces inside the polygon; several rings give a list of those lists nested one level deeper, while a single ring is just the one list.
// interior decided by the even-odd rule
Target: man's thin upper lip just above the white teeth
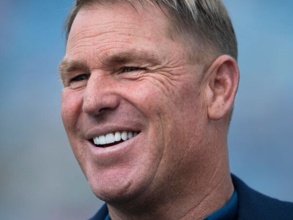
[{"label": "man's thin upper lip just above the white teeth", "polygon": [[85,138],[87,140],[92,139],[94,137],[105,135],[115,131],[141,131],[139,128],[135,126],[103,126],[103,127],[95,127],[87,129],[85,133]]}]

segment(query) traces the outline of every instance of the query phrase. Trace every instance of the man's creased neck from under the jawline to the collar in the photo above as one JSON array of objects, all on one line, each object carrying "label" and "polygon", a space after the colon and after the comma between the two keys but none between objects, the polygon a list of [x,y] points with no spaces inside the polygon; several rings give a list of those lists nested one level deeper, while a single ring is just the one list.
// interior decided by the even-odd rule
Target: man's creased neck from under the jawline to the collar
[{"label": "man's creased neck from under the jawline to the collar", "polygon": [[167,188],[131,201],[131,205],[108,205],[111,219],[202,220],[224,207],[234,192],[226,138],[218,136],[206,144],[206,152],[190,155],[195,171],[186,170],[187,175],[181,170],[181,178],[168,182]]}]

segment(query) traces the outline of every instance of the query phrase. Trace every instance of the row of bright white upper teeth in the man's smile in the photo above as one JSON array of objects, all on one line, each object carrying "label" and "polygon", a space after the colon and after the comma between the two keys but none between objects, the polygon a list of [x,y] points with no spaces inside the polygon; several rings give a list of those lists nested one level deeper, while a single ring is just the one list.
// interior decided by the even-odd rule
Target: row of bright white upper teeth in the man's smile
[{"label": "row of bright white upper teeth in the man's smile", "polygon": [[105,135],[100,135],[99,137],[94,137],[93,141],[95,145],[105,145],[105,144],[112,144],[114,142],[126,141],[127,139],[131,139],[138,135],[138,131],[116,131],[115,133],[111,132]]}]

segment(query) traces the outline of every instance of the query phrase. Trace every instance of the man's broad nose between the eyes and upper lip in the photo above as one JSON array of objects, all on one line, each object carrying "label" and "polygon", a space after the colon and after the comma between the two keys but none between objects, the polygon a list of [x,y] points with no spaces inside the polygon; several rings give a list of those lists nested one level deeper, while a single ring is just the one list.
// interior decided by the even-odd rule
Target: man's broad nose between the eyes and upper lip
[{"label": "man's broad nose between the eyes and upper lip", "polygon": [[114,81],[109,76],[91,74],[84,92],[83,111],[90,115],[98,115],[105,110],[116,109],[120,98],[115,90]]}]

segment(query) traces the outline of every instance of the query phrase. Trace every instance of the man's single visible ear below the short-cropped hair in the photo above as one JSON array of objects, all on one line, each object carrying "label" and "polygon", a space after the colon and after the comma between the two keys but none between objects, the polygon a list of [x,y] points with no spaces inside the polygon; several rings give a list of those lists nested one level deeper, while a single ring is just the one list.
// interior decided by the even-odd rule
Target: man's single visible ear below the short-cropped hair
[{"label": "man's single visible ear below the short-cropped hair", "polygon": [[219,56],[207,71],[207,114],[212,120],[223,118],[233,107],[239,84],[239,68],[228,55]]}]

